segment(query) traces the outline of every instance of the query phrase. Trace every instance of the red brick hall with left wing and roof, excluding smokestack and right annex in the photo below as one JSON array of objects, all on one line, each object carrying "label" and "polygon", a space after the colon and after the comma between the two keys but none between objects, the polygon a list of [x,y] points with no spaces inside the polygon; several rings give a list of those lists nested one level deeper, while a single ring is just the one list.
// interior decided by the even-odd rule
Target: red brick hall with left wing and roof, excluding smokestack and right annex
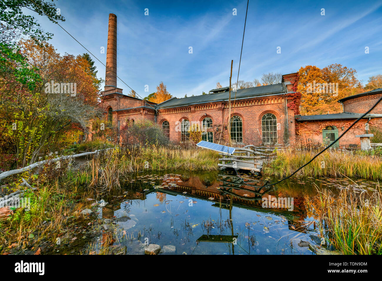
[{"label": "red brick hall with left wing and roof, excluding smokestack and right annex", "polygon": [[174,97],[161,104],[126,96],[122,89],[113,88],[102,92],[101,106],[105,119],[115,126],[151,120],[173,142],[186,141],[189,128],[196,124],[203,140],[226,143],[231,120],[233,145],[286,145],[295,141],[295,114],[288,107],[288,95],[296,78],[297,73],[293,73],[283,75],[282,83],[231,91],[231,114],[228,87],[201,96]]}]

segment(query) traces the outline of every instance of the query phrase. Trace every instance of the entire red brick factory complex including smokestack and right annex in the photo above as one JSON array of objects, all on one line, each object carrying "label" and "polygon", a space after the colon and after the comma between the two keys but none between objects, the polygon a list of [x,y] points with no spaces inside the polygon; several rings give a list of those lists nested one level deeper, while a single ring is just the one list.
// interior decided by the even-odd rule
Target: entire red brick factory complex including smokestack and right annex
[{"label": "entire red brick factory complex including smokestack and right annex", "polygon": [[[377,89],[341,99],[343,112],[339,114],[295,116],[293,89],[297,83],[298,73],[290,73],[278,84],[231,93],[229,87],[212,89],[206,95],[173,97],[160,104],[127,96],[117,88],[117,17],[109,15],[105,91],[101,92],[100,106],[105,120],[111,121],[118,132],[127,122],[145,119],[158,124],[174,143],[188,140],[188,129],[193,124],[201,128],[203,140],[226,144],[231,138],[233,146],[295,145],[304,138],[322,143],[325,138],[334,140],[382,96],[382,89]],[[355,136],[365,132],[366,122],[382,122],[382,104],[352,128],[339,145],[358,144]]]}]

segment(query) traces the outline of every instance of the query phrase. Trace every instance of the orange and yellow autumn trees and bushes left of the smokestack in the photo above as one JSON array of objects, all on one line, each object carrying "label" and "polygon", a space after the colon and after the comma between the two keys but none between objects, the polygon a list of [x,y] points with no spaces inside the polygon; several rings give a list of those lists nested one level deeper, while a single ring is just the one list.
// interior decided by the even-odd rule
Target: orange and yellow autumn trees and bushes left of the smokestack
[{"label": "orange and yellow autumn trees and bushes left of the smokestack", "polygon": [[[60,151],[85,132],[96,108],[99,80],[81,55],[60,55],[47,42],[18,43],[19,53],[40,81],[31,89],[10,73],[0,75],[0,153],[13,154],[16,166],[26,166],[48,151]],[[53,91],[54,83],[76,83],[76,93]]]}]

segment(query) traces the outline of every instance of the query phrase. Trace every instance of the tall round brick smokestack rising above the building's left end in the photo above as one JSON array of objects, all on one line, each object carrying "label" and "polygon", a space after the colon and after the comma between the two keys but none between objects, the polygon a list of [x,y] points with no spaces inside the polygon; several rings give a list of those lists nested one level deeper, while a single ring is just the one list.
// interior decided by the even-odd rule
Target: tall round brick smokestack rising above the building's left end
[{"label": "tall round brick smokestack rising above the building's left end", "polygon": [[113,88],[117,88],[117,16],[114,14],[109,14],[105,91]]}]

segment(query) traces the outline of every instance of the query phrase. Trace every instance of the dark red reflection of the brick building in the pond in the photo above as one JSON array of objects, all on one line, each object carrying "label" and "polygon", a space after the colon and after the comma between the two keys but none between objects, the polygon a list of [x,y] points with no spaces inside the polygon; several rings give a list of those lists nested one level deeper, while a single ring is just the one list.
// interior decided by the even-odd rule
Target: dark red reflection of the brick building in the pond
[{"label": "dark red reflection of the brick building in the pond", "polygon": [[[161,190],[165,193],[175,193],[174,195],[187,195],[214,201],[212,206],[229,208],[230,200],[232,205],[239,208],[246,208],[260,211],[262,213],[283,214],[288,220],[304,220],[306,208],[304,198],[293,198],[293,210],[289,211],[288,206],[274,206],[273,208],[263,208],[262,198],[284,198],[285,194],[277,187],[262,187],[266,184],[263,179],[244,179],[232,174],[216,174],[213,172],[200,175],[188,173],[182,175],[170,174],[162,180]],[[214,198],[212,200],[212,198]]]}]

